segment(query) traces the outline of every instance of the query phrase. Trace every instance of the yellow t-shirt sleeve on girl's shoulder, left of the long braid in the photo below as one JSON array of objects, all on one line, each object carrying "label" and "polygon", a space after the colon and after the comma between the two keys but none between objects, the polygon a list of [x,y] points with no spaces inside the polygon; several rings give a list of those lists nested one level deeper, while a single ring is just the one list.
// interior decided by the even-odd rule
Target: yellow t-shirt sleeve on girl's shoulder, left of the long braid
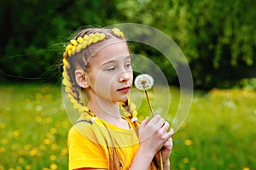
[{"label": "yellow t-shirt sleeve on girl's shoulder, left of the long braid", "polygon": [[101,145],[94,142],[95,136],[90,126],[90,123],[79,122],[69,130],[69,170],[81,167],[108,168],[104,151]]}]

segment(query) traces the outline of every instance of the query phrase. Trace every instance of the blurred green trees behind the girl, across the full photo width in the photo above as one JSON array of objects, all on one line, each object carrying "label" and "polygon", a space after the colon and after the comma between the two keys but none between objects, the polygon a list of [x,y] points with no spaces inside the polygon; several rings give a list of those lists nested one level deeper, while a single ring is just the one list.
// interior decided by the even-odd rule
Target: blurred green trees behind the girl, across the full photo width
[{"label": "blurred green trees behind the girl, across the full photo width", "polygon": [[[244,80],[256,76],[253,0],[3,0],[0,8],[1,81],[56,82],[65,42],[74,31],[133,22],[153,26],[177,42],[189,60],[195,88],[255,85]],[[160,60],[150,48],[135,51]],[[161,69],[177,85],[175,71]]]}]

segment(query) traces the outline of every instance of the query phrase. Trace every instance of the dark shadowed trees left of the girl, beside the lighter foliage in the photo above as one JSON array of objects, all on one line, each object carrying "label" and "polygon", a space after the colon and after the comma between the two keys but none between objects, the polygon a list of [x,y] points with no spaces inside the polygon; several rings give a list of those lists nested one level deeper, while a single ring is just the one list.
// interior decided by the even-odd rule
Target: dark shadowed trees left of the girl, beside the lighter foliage
[{"label": "dark shadowed trees left of the girl, beside the lighter foliage", "polygon": [[70,35],[80,26],[105,26],[113,17],[112,5],[107,0],[1,1],[2,75],[55,81]]}]

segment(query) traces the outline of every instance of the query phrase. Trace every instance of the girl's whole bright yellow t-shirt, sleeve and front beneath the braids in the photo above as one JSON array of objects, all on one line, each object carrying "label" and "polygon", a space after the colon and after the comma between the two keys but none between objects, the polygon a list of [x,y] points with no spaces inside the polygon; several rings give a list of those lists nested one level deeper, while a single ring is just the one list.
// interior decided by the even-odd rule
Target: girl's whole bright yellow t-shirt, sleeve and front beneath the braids
[{"label": "girl's whole bright yellow t-shirt, sleeve and front beneath the braids", "polygon": [[[121,156],[122,169],[129,169],[134,156],[137,153],[139,142],[137,133],[131,122],[126,119],[131,129],[123,129],[113,124],[104,122],[109,133],[113,133],[118,141],[118,152]],[[96,135],[90,122],[80,121],[76,123],[68,133],[69,170],[81,167],[106,168],[108,159],[105,156],[101,144],[97,143]]]}]

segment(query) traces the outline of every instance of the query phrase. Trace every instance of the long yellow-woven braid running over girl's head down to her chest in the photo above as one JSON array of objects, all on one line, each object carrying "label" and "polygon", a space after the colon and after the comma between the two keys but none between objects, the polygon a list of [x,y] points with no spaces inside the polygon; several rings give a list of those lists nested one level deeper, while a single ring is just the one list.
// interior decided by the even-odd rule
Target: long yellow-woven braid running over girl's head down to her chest
[{"label": "long yellow-woven braid running over girl's head down to her chest", "polygon": [[[106,31],[106,33],[100,33]],[[107,37],[108,36],[108,37]],[[114,141],[112,133],[100,119],[97,119],[92,111],[82,102],[79,97],[78,84],[75,81],[74,71],[76,66],[82,68],[88,66],[90,59],[90,47],[92,44],[102,42],[107,38],[115,37],[115,39],[123,39],[123,32],[114,28],[112,30],[103,29],[87,29],[81,31],[75,39],[70,40],[63,54],[63,73],[62,83],[65,86],[65,92],[73,104],[73,108],[81,114],[81,118],[87,122],[91,122],[98,144],[102,145],[102,149],[108,159],[110,170],[119,170],[119,153],[114,147],[117,143]],[[87,49],[87,50],[86,50]],[[93,50],[92,50],[93,51]]]}]

